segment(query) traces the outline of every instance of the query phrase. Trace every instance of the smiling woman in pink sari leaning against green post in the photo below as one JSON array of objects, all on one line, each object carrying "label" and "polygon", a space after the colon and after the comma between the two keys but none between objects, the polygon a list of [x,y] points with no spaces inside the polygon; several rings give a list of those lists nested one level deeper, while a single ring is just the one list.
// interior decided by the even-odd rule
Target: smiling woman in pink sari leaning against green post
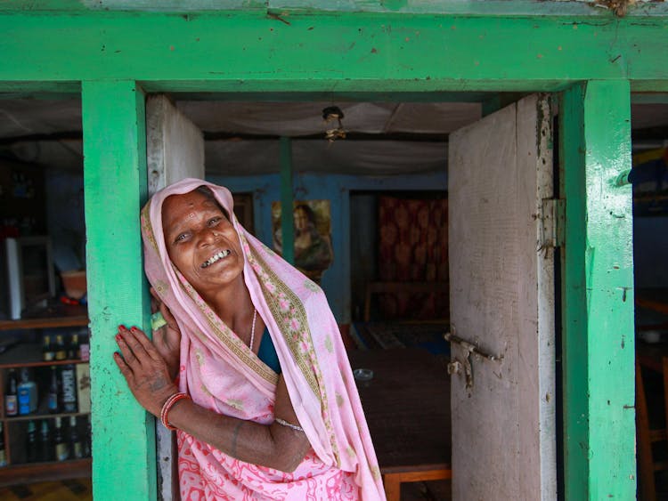
[{"label": "smiling woman in pink sari leaning against green post", "polygon": [[153,343],[119,327],[114,358],[139,403],[177,431],[182,498],[383,499],[322,290],[244,230],[230,192],[208,182],[159,191],[142,232],[169,323]]}]

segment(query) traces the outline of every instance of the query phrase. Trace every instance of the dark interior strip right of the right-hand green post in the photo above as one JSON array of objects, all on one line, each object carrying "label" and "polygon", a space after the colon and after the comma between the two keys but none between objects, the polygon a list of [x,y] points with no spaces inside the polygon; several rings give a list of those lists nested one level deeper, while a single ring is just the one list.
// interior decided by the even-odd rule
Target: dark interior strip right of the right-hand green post
[{"label": "dark interior strip right of the right-hand green post", "polygon": [[632,118],[633,270],[636,320],[636,433],[639,499],[668,496],[668,115],[651,95],[635,96]]}]

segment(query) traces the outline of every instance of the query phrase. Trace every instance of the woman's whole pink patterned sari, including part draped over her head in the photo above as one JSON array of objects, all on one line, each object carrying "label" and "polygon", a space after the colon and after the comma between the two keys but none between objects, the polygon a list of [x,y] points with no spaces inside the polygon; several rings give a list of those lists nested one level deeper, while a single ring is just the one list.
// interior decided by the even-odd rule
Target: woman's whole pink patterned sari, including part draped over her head
[{"label": "woman's whole pink patterned sari, including part draped over her head", "polygon": [[146,275],[181,328],[180,390],[219,414],[273,423],[278,375],[216,316],[167,256],[162,204],[202,185],[232,216],[245,254],[246,286],[271,335],[311,450],[295,472],[282,473],[244,463],[179,431],[182,499],[385,499],[346,350],[321,288],[240,226],[229,190],[196,179],[159,191],[142,211]]}]

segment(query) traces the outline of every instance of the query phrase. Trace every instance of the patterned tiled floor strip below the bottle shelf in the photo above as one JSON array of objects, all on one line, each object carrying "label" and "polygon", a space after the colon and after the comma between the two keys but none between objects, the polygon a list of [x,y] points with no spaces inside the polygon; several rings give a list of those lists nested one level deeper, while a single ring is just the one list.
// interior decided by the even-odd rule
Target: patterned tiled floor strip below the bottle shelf
[{"label": "patterned tiled floor strip below the bottle shelf", "polygon": [[91,501],[91,479],[41,482],[0,488],[2,501]]}]

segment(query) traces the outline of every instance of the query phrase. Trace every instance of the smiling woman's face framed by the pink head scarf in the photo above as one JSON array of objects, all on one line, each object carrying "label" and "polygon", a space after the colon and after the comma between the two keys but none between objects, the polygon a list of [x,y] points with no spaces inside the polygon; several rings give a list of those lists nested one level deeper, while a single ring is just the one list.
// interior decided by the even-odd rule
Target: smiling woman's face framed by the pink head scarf
[{"label": "smiling woman's face framed by the pink head scarf", "polygon": [[240,277],[239,236],[216,202],[199,191],[167,197],[162,206],[167,254],[200,295]]}]

